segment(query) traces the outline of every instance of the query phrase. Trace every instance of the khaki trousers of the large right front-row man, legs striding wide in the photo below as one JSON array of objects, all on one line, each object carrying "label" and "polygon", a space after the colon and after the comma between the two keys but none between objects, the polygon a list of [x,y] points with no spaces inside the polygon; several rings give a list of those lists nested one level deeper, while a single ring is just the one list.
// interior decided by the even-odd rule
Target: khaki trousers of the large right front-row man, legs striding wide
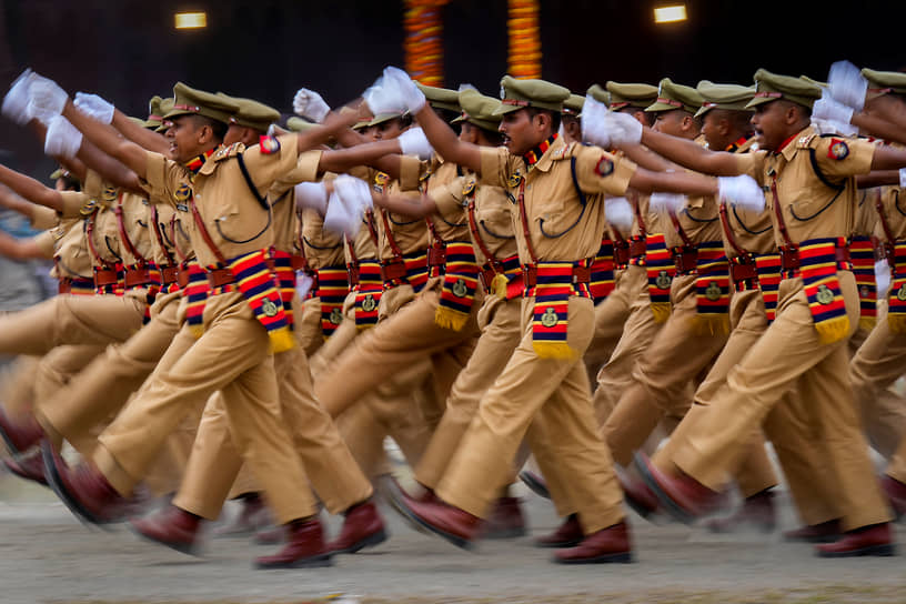
[{"label": "khaki trousers of the large right front-row man, legs striding wide", "polygon": [[[852,272],[837,273],[850,322],[858,325],[858,293]],[[777,319],[727,375],[709,413],[692,426],[673,461],[685,473],[721,490],[742,461],[753,431],[792,390],[809,425],[825,443],[828,475],[839,485],[845,530],[888,522],[889,510],[875,477],[847,375],[846,339],[818,340],[801,279],[781,283]],[[703,415],[704,417],[704,415]]]}]

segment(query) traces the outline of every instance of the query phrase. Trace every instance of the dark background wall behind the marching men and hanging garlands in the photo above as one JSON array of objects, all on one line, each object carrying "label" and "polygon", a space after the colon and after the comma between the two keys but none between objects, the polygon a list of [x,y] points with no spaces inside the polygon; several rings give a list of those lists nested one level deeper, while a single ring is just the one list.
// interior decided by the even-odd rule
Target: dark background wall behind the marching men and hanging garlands
[{"label": "dark background wall behind the marching men and hanging garlands", "polygon": [[[593,82],[670,76],[748,83],[759,67],[825,79],[847,58],[906,67],[906,0],[686,0],[689,20],[655,26],[654,0],[542,0],[543,76],[576,92]],[[178,32],[173,13],[205,10]],[[178,80],[291,111],[305,85],[340,103],[403,63],[402,0],[0,0],[0,90],[26,67],[93,91],[129,113]],[[506,1],[444,8],[447,85],[495,94],[506,70]],[[0,161],[43,175],[38,143],[0,120]]]}]

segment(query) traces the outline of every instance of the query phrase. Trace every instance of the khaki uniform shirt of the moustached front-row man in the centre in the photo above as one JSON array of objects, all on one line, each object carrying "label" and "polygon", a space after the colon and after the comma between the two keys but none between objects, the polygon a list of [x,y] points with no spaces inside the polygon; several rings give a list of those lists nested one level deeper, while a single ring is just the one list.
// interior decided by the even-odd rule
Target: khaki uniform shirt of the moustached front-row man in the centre
[{"label": "khaki uniform shirt of the moustached front-row man in the centre", "polygon": [[[578,190],[586,194],[584,207],[573,182],[573,159]],[[635,163],[626,159],[597,147],[566,144],[562,138],[551,144],[531,170],[522,158],[510,154],[505,148],[482,148],[481,167],[481,184],[504,188],[516,203],[520,190],[524,190],[528,235],[542,262],[594,256],[601,248],[606,220],[603,198],[593,194],[624,195],[635,173]],[[512,213],[512,221],[520,260],[528,264],[532,258],[519,207]]]}]

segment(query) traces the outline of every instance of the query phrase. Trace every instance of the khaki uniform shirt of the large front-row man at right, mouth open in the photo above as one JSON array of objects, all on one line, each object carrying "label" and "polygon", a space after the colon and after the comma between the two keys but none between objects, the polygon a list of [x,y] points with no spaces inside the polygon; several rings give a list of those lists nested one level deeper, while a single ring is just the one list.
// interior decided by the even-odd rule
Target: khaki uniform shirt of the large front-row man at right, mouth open
[{"label": "khaki uniform shirt of the large front-row man at right, mouth open", "polygon": [[[776,182],[779,211],[794,243],[846,238],[853,232],[856,214],[852,177],[870,171],[874,149],[863,140],[819,137],[809,127],[777,153],[756,151],[737,155],[736,161],[739,172],[753,177],[765,190],[774,221],[774,241],[784,245],[772,183]],[[816,174],[813,158],[821,175]]]}]

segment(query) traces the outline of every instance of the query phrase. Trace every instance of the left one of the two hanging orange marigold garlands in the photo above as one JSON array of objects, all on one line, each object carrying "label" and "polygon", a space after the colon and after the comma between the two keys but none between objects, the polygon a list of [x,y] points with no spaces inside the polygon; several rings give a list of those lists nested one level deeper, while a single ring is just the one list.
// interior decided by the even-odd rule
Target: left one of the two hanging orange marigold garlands
[{"label": "left one of the two hanging orange marigold garlands", "polygon": [[413,80],[443,85],[443,16],[449,0],[406,0],[405,67]]}]

